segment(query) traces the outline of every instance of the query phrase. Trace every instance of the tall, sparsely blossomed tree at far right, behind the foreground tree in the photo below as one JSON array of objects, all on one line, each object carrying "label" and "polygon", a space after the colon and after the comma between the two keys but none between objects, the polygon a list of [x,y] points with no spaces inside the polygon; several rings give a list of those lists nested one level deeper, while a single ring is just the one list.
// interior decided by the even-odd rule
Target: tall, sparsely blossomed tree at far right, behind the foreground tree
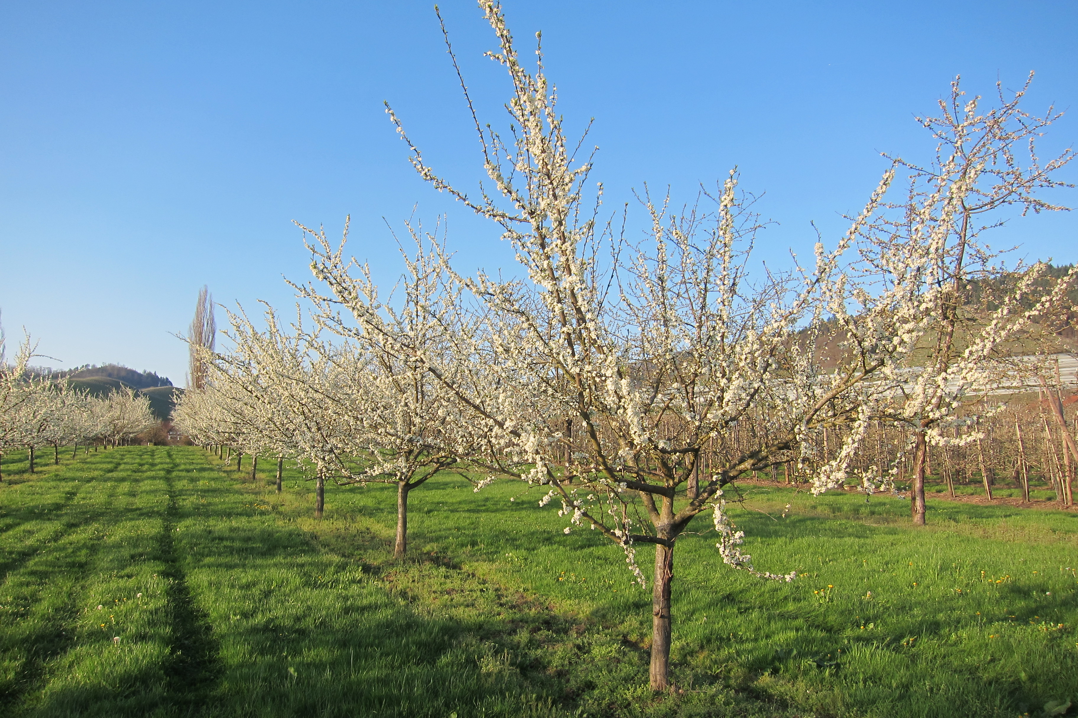
[{"label": "tall, sparsely blossomed tree at far right, behind the foreground tree", "polygon": [[[1013,375],[1021,364],[1006,360],[1029,352],[1023,339],[1036,321],[1059,307],[1073,285],[1074,270],[1052,280],[1047,265],[1008,270],[1003,252],[984,234],[1004,224],[1008,209],[1028,212],[1066,208],[1041,198],[1045,191],[1073,185],[1056,179],[1074,159],[1066,150],[1041,163],[1036,140],[1061,114],[1051,108],[1037,117],[1021,108],[1029,83],[1007,96],[997,83],[998,103],[983,109],[981,98],[965,99],[956,79],[940,100],[938,117],[918,117],[937,140],[927,166],[895,159],[909,172],[904,201],[890,202],[861,227],[861,268],[886,281],[885,265],[901,247],[916,245],[928,257],[917,278],[923,321],[918,352],[907,357],[908,381],[890,408],[892,421],[913,436],[911,512],[925,523],[925,469],[929,445],[976,441],[977,432],[949,436],[955,410]],[[1032,367],[1032,365],[1027,365]],[[985,490],[991,489],[985,477]]]}]

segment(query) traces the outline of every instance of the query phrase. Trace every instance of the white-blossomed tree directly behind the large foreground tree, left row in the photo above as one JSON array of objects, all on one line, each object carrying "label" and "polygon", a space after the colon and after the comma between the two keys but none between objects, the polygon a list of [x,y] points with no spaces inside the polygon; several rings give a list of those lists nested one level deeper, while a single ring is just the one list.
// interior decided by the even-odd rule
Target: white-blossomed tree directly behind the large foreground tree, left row
[{"label": "white-blossomed tree directly behind the large foreground tree, left row", "polygon": [[[345,483],[397,487],[398,559],[406,552],[410,493],[461,457],[501,453],[488,419],[499,385],[475,354],[478,323],[459,311],[460,283],[434,236],[409,229],[415,253],[402,251],[399,296],[381,298],[368,266],[344,261],[344,242],[334,250],[323,231],[307,228],[312,270],[333,294],[295,285],[318,324],[345,339],[312,344],[329,368],[321,393],[336,427],[331,470]],[[489,480],[475,481],[476,490]]]}]

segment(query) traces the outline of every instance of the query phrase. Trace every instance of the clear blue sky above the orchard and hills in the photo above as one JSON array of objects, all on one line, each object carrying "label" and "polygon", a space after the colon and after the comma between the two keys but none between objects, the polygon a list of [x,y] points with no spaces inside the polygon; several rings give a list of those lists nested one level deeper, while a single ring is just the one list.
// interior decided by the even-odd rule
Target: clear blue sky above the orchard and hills
[{"label": "clear blue sky above the orchard and hills", "polygon": [[[1027,109],[1072,110],[1045,154],[1078,138],[1078,3],[934,0],[507,0],[522,50],[543,31],[570,126],[596,119],[594,179],[611,205],[645,181],[689,198],[737,165],[778,222],[764,256],[833,237],[884,169],[927,159],[913,121],[960,73],[990,94],[1037,71]],[[467,80],[500,122],[505,78],[468,0],[442,4]],[[475,140],[430,2],[0,3],[0,310],[56,367],[116,362],[182,384],[197,290],[287,308],[303,280],[292,220],[336,235],[390,281],[383,217],[448,213],[465,268],[509,267],[497,233],[427,187],[382,102],[425,156],[467,184]],[[1068,172],[1078,181],[1078,167]],[[1078,203],[1072,195],[1070,203]],[[1076,258],[1078,215],[1015,222],[1000,241]]]}]

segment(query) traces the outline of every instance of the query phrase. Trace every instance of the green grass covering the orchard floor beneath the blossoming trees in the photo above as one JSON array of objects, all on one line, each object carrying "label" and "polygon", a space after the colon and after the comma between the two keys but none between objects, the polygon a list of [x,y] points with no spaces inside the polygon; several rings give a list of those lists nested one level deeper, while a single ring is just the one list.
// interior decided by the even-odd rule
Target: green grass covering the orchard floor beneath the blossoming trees
[{"label": "green grass covering the orchard floor beneath the blossoming trees", "polygon": [[316,521],[294,471],[278,496],[268,474],[237,477],[195,448],[69,450],[58,467],[47,453],[32,477],[3,459],[4,716],[1012,717],[1078,703],[1074,512],[932,501],[915,531],[908,502],[754,487],[736,512],[747,550],[803,576],[723,566],[700,517],[676,557],[678,690],[652,695],[650,592],[597,534],[564,535],[539,490],[428,482],[395,563],[390,489],[330,487]]}]

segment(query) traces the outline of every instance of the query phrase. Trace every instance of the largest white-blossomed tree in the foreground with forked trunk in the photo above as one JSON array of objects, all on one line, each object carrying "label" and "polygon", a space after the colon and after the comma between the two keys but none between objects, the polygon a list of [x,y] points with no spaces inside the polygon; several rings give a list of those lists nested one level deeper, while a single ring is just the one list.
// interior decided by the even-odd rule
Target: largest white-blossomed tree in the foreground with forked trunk
[{"label": "largest white-blossomed tree in the foreground with forked trunk", "polygon": [[[843,253],[876,212],[892,172],[833,251],[817,245],[814,267],[785,274],[750,277],[758,225],[733,172],[714,199],[702,198],[714,201],[711,211],[673,212],[645,197],[651,222],[644,241],[607,231],[583,203],[591,165],[575,157],[541,61],[536,73],[525,70],[500,8],[481,5],[500,43],[490,56],[513,85],[512,142],[475,123],[495,192],[473,197],[454,187],[392,119],[417,171],[497,222],[526,277],[458,279],[471,299],[456,301],[460,318],[442,321],[457,327],[444,356],[401,352],[392,333],[368,332],[376,326],[362,316],[368,302],[341,250],[331,252],[324,241],[313,269],[333,296],[319,299],[314,290],[308,296],[322,301],[321,321],[337,328],[331,306],[349,309],[360,325],[357,338],[419,364],[457,412],[485,424],[493,440],[480,465],[548,487],[541,503],[561,501],[566,533],[577,525],[597,530],[624,550],[641,583],[637,546],[655,547],[650,674],[652,688],[664,689],[678,537],[710,511],[724,562],[765,578],[793,578],[752,568],[727,516],[723,488],[746,473],[819,455],[821,432],[837,426],[847,428],[846,439],[820,467],[816,490],[844,482],[858,440],[896,388],[890,369],[914,348],[909,327],[918,320],[923,288],[914,278],[928,257],[917,247],[888,250],[889,281],[873,292],[844,272]],[[612,259],[604,265],[607,250]],[[439,259],[452,273],[447,257]],[[416,310],[442,315],[438,305]],[[821,337],[839,349],[827,371],[817,362]],[[469,383],[478,369],[458,368],[476,365],[494,392]],[[750,440],[725,452],[687,496],[705,446],[734,432]]]}]

